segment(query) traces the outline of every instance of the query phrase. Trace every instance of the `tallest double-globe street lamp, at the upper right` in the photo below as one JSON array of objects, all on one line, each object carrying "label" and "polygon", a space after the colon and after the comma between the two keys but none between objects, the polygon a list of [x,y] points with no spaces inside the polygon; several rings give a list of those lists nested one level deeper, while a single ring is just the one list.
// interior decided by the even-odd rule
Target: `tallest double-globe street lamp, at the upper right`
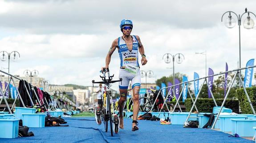
[{"label": "tallest double-globe street lamp, at the upper right", "polygon": [[240,36],[240,26],[241,26],[241,19],[242,19],[242,16],[245,14],[245,13],[248,13],[248,16],[246,19],[244,19],[244,22],[243,22],[243,25],[244,25],[244,28],[246,29],[252,29],[254,27],[254,21],[253,19],[251,19],[250,17],[250,13],[252,15],[254,15],[256,17],[256,15],[252,12],[247,12],[247,8],[245,8],[245,12],[240,16],[240,15],[237,15],[235,12],[232,12],[232,11],[228,11],[228,12],[225,12],[222,17],[221,17],[221,22],[223,21],[223,16],[226,14],[226,13],[229,13],[228,15],[228,18],[225,20],[225,26],[228,27],[228,28],[233,28],[236,26],[236,20],[232,17],[231,13],[235,14],[236,17],[237,17],[237,20],[238,20],[238,27],[239,27],[239,68],[241,68],[241,36]]}]

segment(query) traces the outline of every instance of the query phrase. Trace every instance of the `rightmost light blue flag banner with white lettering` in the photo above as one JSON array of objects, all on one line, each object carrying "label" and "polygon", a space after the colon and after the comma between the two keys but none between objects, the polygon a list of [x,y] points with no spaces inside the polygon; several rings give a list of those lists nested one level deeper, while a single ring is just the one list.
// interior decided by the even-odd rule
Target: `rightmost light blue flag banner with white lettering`
[{"label": "rightmost light blue flag banner with white lettering", "polygon": [[[254,66],[254,59],[250,59],[246,67],[248,66]],[[253,68],[246,69],[244,74],[244,86],[245,87],[251,87],[252,86],[252,76],[253,76]]]}]

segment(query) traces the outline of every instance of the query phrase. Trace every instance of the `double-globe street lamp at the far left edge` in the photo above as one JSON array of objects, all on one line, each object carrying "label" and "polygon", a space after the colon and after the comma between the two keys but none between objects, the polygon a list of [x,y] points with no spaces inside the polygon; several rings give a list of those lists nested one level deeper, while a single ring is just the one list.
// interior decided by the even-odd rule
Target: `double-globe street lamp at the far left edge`
[{"label": "double-globe street lamp at the far left edge", "polygon": [[[16,53],[19,55],[19,57],[16,56]],[[1,61],[6,61],[8,59],[8,74],[10,73],[10,59],[12,59],[13,62],[17,61],[18,58],[20,58],[20,53],[16,50],[12,51],[11,53],[8,53],[7,51],[0,51],[0,58]],[[12,56],[13,55],[13,56]],[[11,57],[12,56],[12,57]],[[9,79],[9,75],[8,75]]]}]

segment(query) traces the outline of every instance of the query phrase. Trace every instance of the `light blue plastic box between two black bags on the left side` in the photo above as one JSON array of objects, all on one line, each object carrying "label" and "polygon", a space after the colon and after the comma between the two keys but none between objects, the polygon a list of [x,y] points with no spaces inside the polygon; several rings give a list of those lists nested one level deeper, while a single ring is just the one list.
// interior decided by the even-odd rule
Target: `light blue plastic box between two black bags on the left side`
[{"label": "light blue plastic box between two black bags on the left side", "polygon": [[22,114],[23,126],[31,128],[43,128],[45,127],[45,114]]}]

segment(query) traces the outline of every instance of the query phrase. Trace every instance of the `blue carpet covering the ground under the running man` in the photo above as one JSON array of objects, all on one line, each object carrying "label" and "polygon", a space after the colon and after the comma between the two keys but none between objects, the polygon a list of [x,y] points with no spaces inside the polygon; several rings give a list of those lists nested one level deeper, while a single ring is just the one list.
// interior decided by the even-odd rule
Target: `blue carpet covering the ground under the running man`
[{"label": "blue carpet covering the ground under the running man", "polygon": [[131,131],[130,119],[125,119],[125,129],[111,137],[98,126],[93,117],[65,118],[69,127],[30,128],[33,137],[2,139],[0,143],[253,143],[253,141],[228,137],[229,134],[201,128],[183,128],[182,125],[161,125],[158,121],[139,120],[139,130]]}]

